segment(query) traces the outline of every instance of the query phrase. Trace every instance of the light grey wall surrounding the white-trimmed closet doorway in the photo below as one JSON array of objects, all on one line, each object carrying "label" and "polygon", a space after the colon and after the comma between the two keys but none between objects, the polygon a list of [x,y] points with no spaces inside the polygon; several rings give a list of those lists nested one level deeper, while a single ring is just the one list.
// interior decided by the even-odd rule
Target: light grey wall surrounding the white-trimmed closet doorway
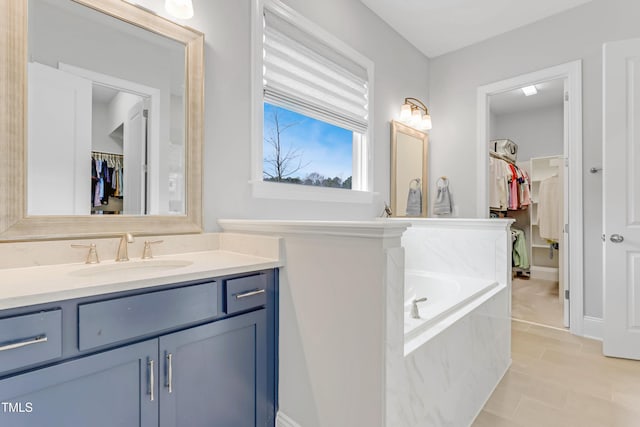
[{"label": "light grey wall surrounding the white-trimmed closet doorway", "polygon": [[447,175],[460,216],[471,217],[478,86],[582,59],[585,314],[593,317],[602,317],[602,174],[588,170],[602,163],[602,44],[640,37],[638,16],[640,2],[594,0],[430,63],[431,182]]}]

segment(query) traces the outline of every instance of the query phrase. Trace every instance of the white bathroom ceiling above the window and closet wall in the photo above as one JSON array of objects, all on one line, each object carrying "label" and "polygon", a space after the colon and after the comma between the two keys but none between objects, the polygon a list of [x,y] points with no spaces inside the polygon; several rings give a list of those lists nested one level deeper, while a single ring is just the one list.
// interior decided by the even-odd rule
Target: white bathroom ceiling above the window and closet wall
[{"label": "white bathroom ceiling above the window and closet wall", "polygon": [[361,0],[429,58],[592,0]]}]

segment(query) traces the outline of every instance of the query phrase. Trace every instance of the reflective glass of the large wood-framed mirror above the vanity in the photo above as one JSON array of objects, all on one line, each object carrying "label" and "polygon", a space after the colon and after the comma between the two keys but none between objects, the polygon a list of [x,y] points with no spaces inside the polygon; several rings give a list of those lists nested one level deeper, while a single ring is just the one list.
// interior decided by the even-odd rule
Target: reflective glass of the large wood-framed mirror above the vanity
[{"label": "reflective glass of the large wood-framed mirror above the vanity", "polygon": [[29,0],[28,215],[185,214],[185,45]]}]

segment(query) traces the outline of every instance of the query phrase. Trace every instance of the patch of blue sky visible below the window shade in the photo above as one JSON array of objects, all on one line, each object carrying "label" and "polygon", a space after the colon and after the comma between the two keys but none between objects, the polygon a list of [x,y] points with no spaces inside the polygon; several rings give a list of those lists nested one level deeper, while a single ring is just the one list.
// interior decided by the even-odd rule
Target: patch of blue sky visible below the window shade
[{"label": "patch of blue sky visible below the window shade", "polygon": [[274,114],[278,116],[281,129],[281,153],[293,153],[291,157],[295,157],[292,158],[289,169],[301,166],[291,175],[292,178],[304,180],[309,174],[318,173],[326,178],[338,177],[344,181],[352,175],[352,131],[265,102],[265,177],[273,170],[268,159],[275,157],[274,146],[269,141],[276,134]]}]

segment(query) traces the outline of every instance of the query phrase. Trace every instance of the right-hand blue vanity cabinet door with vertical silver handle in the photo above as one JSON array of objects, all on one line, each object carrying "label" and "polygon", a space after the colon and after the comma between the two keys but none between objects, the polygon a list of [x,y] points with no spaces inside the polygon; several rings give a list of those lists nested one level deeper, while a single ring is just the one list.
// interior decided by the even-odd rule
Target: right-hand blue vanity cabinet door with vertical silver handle
[{"label": "right-hand blue vanity cabinet door with vertical silver handle", "polygon": [[269,425],[266,352],[264,309],[161,337],[160,425]]}]

